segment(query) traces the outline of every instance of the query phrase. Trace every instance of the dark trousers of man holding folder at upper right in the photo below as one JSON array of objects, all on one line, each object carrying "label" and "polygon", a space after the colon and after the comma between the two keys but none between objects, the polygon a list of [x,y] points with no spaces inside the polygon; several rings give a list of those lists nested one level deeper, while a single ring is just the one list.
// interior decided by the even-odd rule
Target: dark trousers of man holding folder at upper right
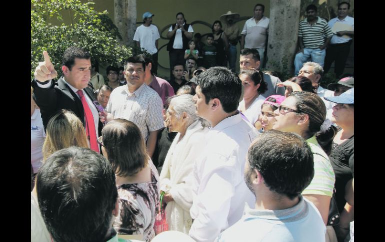
[{"label": "dark trousers of man holding folder at upper right", "polygon": [[331,63],[334,61],[334,73],[339,78],[345,68],[346,59],[349,55],[351,40],[341,44],[329,44],[326,48],[325,64],[323,72],[329,71]]}]

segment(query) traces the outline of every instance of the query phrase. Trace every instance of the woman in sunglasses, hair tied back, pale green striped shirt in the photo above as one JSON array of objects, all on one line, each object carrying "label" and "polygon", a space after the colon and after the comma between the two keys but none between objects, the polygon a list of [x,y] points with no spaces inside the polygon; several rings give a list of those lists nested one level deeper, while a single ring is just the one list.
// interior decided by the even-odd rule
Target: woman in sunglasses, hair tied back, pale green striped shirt
[{"label": "woman in sunglasses, hair tied back, pale green striped shirt", "polygon": [[[276,122],[273,129],[301,135],[313,152],[314,177],[302,195],[317,207],[326,225],[335,179],[330,161],[316,137],[325,120],[325,104],[314,93],[292,92],[274,111],[274,114]],[[332,138],[332,136],[327,137]],[[321,140],[320,143],[328,142]]]}]

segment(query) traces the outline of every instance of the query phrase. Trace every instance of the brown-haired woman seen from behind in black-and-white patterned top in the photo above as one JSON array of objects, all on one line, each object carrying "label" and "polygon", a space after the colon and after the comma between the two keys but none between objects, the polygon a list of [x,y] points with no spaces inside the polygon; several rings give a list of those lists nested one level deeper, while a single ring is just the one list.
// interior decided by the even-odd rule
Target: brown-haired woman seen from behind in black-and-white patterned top
[{"label": "brown-haired woman seen from behind in black-and-white patterned top", "polygon": [[155,214],[159,209],[159,174],[147,155],[139,128],[125,119],[114,119],[98,138],[103,156],[116,174],[119,213],[113,228],[121,235],[155,236]]}]

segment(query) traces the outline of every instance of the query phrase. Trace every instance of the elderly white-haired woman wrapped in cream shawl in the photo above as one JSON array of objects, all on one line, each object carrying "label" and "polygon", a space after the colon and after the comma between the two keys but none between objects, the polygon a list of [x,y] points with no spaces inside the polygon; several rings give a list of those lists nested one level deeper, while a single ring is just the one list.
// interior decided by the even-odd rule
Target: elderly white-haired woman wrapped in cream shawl
[{"label": "elderly white-haired woman wrapped in cream shawl", "polygon": [[168,230],[188,234],[192,224],[189,212],[192,196],[187,177],[192,172],[195,158],[205,146],[204,135],[208,129],[202,127],[189,94],[171,99],[167,121],[170,131],[178,133],[164,160],[160,190],[165,192],[163,201],[167,203]]}]

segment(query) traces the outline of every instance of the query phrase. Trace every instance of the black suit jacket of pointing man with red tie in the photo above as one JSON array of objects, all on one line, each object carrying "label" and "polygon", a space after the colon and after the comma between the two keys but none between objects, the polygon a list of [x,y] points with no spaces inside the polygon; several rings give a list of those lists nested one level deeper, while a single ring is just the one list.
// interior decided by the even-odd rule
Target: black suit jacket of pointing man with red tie
[{"label": "black suit jacket of pointing man with red tie", "polygon": [[[51,80],[49,88],[39,87],[36,80],[32,80],[31,86],[33,87],[34,100],[40,108],[44,129],[46,129],[49,119],[61,109],[72,111],[85,127],[83,105],[79,97],[69,88],[62,77],[57,80],[57,83]],[[83,90],[92,101],[95,101],[91,88],[86,87]],[[99,135],[101,129],[102,124],[99,120]]]}]

